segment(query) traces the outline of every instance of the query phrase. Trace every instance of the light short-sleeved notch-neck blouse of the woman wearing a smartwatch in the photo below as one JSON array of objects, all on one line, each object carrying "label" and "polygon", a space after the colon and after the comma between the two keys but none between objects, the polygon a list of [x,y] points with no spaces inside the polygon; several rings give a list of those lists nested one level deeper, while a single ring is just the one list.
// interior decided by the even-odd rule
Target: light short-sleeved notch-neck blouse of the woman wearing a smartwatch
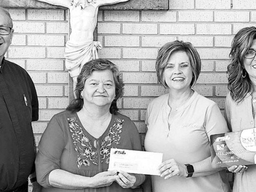
[{"label": "light short-sleeved notch-neck blouse of the woman wearing a smartwatch", "polygon": [[[163,161],[175,159],[181,164],[192,164],[210,157],[210,135],[227,133],[227,123],[215,102],[196,91],[177,110],[173,122],[169,93],[153,100],[147,109],[145,138],[146,151],[161,152]],[[165,180],[152,176],[153,192],[229,192],[225,171],[201,177],[174,176]]]}]

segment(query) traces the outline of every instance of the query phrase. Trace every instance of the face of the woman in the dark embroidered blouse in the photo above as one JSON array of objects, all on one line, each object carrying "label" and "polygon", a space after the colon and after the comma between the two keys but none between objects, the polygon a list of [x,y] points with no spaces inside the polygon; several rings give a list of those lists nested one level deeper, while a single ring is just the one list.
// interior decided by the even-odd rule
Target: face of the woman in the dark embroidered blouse
[{"label": "face of the woman in the dark embroidered blouse", "polygon": [[115,97],[115,82],[112,71],[93,71],[91,76],[86,79],[81,95],[83,105],[86,107],[110,107]]}]

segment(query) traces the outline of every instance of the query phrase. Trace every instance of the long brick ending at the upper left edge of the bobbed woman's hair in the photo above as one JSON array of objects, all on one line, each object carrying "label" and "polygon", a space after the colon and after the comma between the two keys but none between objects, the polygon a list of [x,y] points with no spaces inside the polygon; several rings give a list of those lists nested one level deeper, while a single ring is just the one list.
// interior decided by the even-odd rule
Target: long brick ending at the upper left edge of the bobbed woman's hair
[{"label": "long brick ending at the upper left edge of the bobbed woman's hair", "polygon": [[157,49],[124,48],[123,58],[155,59],[157,51]]}]

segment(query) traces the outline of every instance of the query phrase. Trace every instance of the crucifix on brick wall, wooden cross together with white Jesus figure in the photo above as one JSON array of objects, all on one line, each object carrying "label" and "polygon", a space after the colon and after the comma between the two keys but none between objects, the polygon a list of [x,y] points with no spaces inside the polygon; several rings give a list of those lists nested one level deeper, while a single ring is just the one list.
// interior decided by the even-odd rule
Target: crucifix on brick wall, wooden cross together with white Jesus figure
[{"label": "crucifix on brick wall, wooden cross together with white Jesus figure", "polygon": [[[6,8],[68,8],[71,33],[65,46],[65,65],[73,78],[73,89],[82,66],[98,58],[101,42],[93,41],[99,7],[104,9],[168,10],[169,0],[2,0]],[[73,90],[73,89],[70,89]]]}]

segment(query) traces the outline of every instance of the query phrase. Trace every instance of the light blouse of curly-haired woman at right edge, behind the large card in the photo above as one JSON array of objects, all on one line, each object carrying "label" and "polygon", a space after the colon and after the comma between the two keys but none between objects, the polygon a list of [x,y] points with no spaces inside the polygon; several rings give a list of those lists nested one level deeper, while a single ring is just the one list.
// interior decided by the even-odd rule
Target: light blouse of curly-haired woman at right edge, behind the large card
[{"label": "light blouse of curly-haired woman at right edge, behind the large card", "polygon": [[[232,132],[256,127],[253,117],[252,96],[248,93],[241,102],[232,100],[230,93],[226,98],[225,117]],[[243,174],[236,174],[233,192],[256,191],[256,165],[247,165]]]}]

